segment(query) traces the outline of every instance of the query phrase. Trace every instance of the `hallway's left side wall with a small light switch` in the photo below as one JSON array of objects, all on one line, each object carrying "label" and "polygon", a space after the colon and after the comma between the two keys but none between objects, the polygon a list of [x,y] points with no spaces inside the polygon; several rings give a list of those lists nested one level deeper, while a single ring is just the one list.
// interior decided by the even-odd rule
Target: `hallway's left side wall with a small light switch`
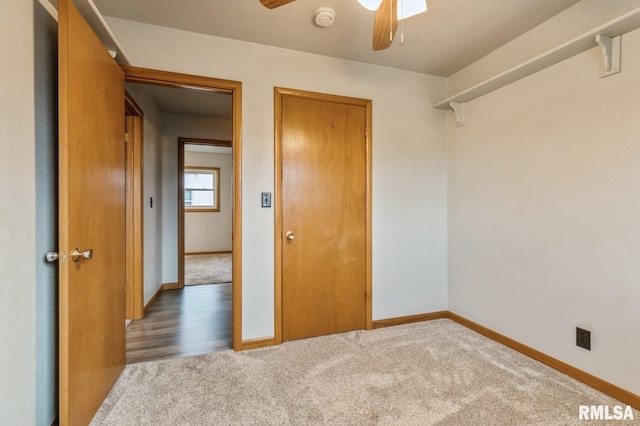
[{"label": "hallway's left side wall with a small light switch", "polygon": [[[144,303],[162,281],[162,122],[155,100],[144,84],[127,83],[126,90],[143,111],[143,233]],[[151,206],[153,198],[153,207]]]}]

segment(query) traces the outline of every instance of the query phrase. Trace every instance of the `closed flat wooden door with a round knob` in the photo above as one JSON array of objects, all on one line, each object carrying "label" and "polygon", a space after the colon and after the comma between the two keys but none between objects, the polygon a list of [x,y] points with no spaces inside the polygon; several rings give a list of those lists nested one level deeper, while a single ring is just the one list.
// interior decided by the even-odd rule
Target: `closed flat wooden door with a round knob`
[{"label": "closed flat wooden door with a round knob", "polygon": [[282,97],[282,338],[365,328],[367,107]]}]

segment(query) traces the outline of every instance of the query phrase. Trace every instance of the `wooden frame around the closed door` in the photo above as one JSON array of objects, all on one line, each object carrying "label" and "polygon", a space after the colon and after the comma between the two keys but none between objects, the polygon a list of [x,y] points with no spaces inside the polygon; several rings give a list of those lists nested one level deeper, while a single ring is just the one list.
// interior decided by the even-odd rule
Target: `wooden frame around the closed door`
[{"label": "wooden frame around the closed door", "polygon": [[308,92],[304,90],[286,89],[282,87],[274,88],[274,167],[275,167],[275,186],[274,186],[274,203],[275,203],[275,265],[274,265],[274,343],[279,345],[282,343],[283,328],[283,274],[282,274],[282,101],[285,96],[297,96],[306,99],[314,99],[319,101],[327,101],[333,103],[342,103],[347,105],[357,105],[365,108],[365,329],[373,329],[372,316],[372,243],[371,243],[371,185],[372,185],[372,101],[369,99],[351,98],[346,96],[329,95],[324,93]]}]

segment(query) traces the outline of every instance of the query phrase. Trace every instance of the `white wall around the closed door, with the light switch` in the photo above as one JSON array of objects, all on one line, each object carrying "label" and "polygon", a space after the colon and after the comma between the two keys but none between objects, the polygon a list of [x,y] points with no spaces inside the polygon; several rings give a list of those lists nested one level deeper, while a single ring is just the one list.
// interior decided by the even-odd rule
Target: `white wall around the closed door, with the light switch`
[{"label": "white wall around the closed door, with the light switch", "polygon": [[373,100],[373,317],[446,309],[445,113],[431,108],[444,79],[108,23],[133,65],[242,81],[243,339],[272,336],[274,327],[274,216],[259,202],[274,185],[274,86]]}]

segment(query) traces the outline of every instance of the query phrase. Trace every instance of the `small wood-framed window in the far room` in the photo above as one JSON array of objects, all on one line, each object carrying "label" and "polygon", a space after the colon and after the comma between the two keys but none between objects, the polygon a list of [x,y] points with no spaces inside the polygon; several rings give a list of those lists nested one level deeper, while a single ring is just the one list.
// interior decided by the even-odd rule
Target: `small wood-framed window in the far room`
[{"label": "small wood-framed window in the far room", "polygon": [[220,211],[220,168],[184,168],[184,207],[188,212]]}]

